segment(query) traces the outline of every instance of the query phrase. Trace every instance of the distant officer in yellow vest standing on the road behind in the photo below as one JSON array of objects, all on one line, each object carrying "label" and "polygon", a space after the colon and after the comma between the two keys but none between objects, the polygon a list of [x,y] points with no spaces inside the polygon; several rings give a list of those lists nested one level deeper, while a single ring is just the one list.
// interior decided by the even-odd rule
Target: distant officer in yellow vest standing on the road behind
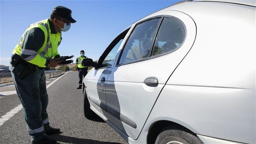
[{"label": "distant officer in yellow vest standing on the road behind", "polygon": [[80,56],[76,58],[76,64],[77,64],[77,70],[78,70],[78,76],[79,76],[79,86],[76,89],[82,89],[82,80],[83,76],[85,77],[87,74],[88,67],[82,66],[82,60],[88,58],[84,56],[84,50],[80,51]]}]

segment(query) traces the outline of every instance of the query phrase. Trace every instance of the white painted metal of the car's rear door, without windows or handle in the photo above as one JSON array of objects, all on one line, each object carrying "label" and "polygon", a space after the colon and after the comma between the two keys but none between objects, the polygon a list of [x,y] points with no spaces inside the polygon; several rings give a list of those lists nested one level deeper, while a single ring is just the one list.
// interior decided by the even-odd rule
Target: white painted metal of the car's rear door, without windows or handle
[{"label": "white painted metal of the car's rear door, without windows or handle", "polygon": [[[137,139],[144,123],[167,79],[182,61],[194,43],[196,26],[194,21],[186,14],[178,11],[159,12],[153,16],[171,15],[183,21],[187,28],[187,35],[183,45],[176,51],[161,57],[113,67],[108,77],[106,94],[107,107],[114,109],[131,119],[136,128],[109,116],[108,119],[122,132],[132,139]],[[166,65],[166,62],[171,62]],[[161,65],[159,68],[154,66]],[[140,71],[138,72],[138,69]],[[129,70],[129,73],[125,74]],[[148,77],[156,77],[156,87],[143,83]],[[136,113],[136,114],[135,114]],[[140,117],[138,117],[140,115]]]}]

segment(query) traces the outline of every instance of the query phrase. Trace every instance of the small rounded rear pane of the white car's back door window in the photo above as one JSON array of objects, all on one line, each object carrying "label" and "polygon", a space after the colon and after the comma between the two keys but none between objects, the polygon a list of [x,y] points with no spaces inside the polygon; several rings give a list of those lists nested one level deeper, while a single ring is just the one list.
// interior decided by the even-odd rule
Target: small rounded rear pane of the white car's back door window
[{"label": "small rounded rear pane of the white car's back door window", "polygon": [[186,29],[183,25],[175,19],[165,17],[157,33],[151,56],[177,50],[185,37]]}]

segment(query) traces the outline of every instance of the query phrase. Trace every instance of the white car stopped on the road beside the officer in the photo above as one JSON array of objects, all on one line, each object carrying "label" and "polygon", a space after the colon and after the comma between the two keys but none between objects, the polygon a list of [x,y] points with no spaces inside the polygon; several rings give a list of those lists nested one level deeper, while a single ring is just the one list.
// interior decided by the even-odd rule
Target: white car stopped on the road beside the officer
[{"label": "white car stopped on the road beside the officer", "polygon": [[256,143],[255,1],[184,1],[121,32],[83,80],[84,114],[128,143]]}]

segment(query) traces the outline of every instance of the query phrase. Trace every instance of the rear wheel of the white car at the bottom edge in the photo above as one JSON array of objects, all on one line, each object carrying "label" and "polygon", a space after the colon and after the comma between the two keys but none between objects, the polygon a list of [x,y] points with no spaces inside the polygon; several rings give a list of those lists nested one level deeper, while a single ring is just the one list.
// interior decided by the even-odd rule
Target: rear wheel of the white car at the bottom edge
[{"label": "rear wheel of the white car at the bottom edge", "polygon": [[166,127],[157,136],[155,144],[203,144],[192,132],[184,128]]}]

